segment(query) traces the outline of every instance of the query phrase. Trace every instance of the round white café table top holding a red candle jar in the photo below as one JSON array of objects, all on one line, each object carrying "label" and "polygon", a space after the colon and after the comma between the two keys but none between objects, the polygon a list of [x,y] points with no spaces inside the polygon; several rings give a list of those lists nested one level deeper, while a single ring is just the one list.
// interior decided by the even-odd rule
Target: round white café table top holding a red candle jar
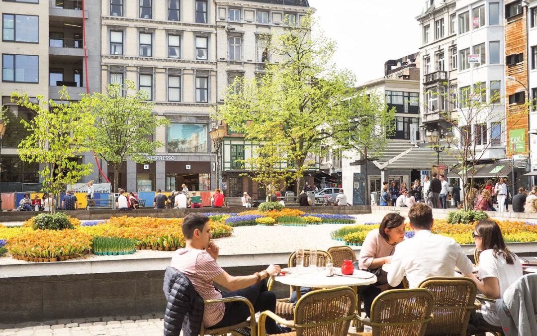
[{"label": "round white caf\u00e9 table top holding a red candle jar", "polygon": [[[274,280],[280,283],[297,286],[297,287],[313,287],[313,288],[333,288],[339,286],[365,286],[376,282],[376,276],[372,273],[354,270],[354,276],[338,276],[334,268],[333,276],[326,276],[326,270],[324,267],[304,267],[300,274],[297,273],[296,268],[291,268],[291,273],[286,275],[275,276]],[[340,270],[340,269],[339,269]],[[285,271],[285,269],[284,269]]]}]

